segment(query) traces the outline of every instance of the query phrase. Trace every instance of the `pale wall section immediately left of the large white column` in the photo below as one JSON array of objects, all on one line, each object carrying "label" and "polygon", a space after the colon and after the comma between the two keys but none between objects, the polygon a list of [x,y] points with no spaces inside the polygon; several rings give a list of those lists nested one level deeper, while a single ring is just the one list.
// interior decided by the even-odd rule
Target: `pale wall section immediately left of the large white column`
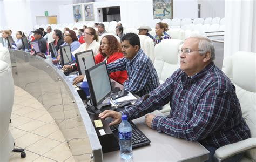
[{"label": "pale wall section immediately left of the large white column", "polygon": [[198,4],[201,4],[201,18],[225,17],[225,0],[198,0]]}]

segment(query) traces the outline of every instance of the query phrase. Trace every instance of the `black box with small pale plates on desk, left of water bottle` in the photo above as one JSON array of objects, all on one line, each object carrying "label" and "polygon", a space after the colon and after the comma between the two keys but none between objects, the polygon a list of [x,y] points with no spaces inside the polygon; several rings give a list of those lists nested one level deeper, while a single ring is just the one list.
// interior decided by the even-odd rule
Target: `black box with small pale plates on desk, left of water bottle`
[{"label": "black box with small pale plates on desk, left of water bottle", "polygon": [[107,153],[119,150],[118,141],[114,137],[109,123],[106,120],[100,119],[99,114],[90,115],[90,118],[99,138],[100,145],[102,145],[102,152]]}]

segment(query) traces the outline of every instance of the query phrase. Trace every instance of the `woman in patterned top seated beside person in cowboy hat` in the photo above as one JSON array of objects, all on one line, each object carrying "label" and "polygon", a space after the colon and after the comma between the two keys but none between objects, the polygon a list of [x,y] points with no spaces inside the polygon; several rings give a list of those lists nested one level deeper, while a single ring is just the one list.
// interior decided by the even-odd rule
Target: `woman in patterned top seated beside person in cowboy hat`
[{"label": "woman in patterned top seated beside person in cowboy hat", "polygon": [[156,29],[156,36],[154,36],[154,45],[161,43],[161,40],[163,39],[171,39],[171,37],[165,32],[168,30],[168,27],[166,28],[165,23],[162,23],[162,22],[157,23],[155,29]]}]

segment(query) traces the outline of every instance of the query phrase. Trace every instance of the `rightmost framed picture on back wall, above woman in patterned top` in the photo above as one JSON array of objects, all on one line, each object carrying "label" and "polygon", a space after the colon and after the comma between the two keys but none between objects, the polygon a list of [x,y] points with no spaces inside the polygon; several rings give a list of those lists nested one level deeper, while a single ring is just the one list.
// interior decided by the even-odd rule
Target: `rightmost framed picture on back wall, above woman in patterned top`
[{"label": "rightmost framed picture on back wall, above woman in patterned top", "polygon": [[153,19],[173,18],[173,0],[153,0]]}]

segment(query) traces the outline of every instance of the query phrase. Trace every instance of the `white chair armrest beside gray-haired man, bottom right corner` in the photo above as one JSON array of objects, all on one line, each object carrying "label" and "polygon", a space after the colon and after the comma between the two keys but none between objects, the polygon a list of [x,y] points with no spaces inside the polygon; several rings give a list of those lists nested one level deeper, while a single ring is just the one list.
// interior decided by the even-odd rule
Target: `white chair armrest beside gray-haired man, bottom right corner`
[{"label": "white chair armrest beside gray-haired man, bottom right corner", "polygon": [[254,148],[256,148],[256,138],[252,137],[239,141],[237,143],[220,147],[215,151],[215,156],[218,159],[226,159],[228,157],[234,156],[235,154],[245,152]]}]

